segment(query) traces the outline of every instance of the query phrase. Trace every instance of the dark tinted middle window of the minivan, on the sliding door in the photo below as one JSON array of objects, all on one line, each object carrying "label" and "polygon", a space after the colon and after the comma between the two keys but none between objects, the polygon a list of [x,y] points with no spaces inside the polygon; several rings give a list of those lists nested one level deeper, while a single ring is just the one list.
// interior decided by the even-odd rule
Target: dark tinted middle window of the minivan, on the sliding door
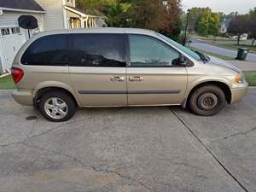
[{"label": "dark tinted middle window of the minivan, on the sliding door", "polygon": [[122,34],[70,34],[69,64],[77,67],[125,67]]}]

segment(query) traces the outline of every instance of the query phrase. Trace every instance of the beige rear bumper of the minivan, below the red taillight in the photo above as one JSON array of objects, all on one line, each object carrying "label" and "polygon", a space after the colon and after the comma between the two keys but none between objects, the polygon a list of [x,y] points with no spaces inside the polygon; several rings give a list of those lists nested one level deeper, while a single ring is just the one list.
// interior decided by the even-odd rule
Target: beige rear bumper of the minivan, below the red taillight
[{"label": "beige rear bumper of the minivan, below the red taillight", "polygon": [[33,105],[33,91],[32,90],[14,90],[12,96],[15,99],[15,102],[20,103],[21,105]]}]

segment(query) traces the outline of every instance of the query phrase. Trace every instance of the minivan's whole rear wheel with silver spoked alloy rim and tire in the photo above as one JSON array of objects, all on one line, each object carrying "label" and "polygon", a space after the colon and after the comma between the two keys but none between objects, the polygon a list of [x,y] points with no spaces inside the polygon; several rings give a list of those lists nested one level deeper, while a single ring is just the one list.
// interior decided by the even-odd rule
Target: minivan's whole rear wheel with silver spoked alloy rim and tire
[{"label": "minivan's whole rear wheel with silver spoked alloy rim and tire", "polygon": [[39,102],[39,109],[46,119],[62,122],[71,119],[76,105],[73,98],[63,91],[52,91],[44,95]]}]

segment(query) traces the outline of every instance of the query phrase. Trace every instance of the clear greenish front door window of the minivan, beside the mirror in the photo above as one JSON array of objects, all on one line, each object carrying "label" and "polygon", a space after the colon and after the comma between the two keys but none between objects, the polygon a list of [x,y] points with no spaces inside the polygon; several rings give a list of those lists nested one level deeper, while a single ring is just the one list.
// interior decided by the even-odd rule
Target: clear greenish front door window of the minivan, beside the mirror
[{"label": "clear greenish front door window of the minivan, beside the mirror", "polygon": [[160,40],[130,35],[131,67],[172,67],[179,53]]}]

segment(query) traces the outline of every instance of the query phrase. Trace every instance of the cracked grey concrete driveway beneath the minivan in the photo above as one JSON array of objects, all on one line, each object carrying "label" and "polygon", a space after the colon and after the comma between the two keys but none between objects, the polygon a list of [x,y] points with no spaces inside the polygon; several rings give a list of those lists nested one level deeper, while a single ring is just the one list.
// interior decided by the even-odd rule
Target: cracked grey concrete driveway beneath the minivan
[{"label": "cracked grey concrete driveway beneath the minivan", "polygon": [[214,117],[79,109],[67,123],[0,91],[1,192],[256,191],[256,90]]}]

